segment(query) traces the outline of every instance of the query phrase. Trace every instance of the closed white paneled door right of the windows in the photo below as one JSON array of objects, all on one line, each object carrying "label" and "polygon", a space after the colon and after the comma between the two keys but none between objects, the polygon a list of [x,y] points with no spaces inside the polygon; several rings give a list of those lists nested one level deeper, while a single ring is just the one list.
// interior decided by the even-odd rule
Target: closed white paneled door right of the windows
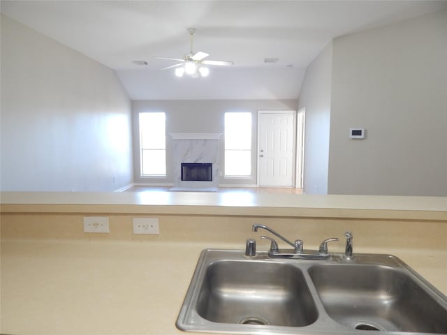
[{"label": "closed white paneled door right of the windows", "polygon": [[295,111],[258,112],[258,185],[292,187]]}]

